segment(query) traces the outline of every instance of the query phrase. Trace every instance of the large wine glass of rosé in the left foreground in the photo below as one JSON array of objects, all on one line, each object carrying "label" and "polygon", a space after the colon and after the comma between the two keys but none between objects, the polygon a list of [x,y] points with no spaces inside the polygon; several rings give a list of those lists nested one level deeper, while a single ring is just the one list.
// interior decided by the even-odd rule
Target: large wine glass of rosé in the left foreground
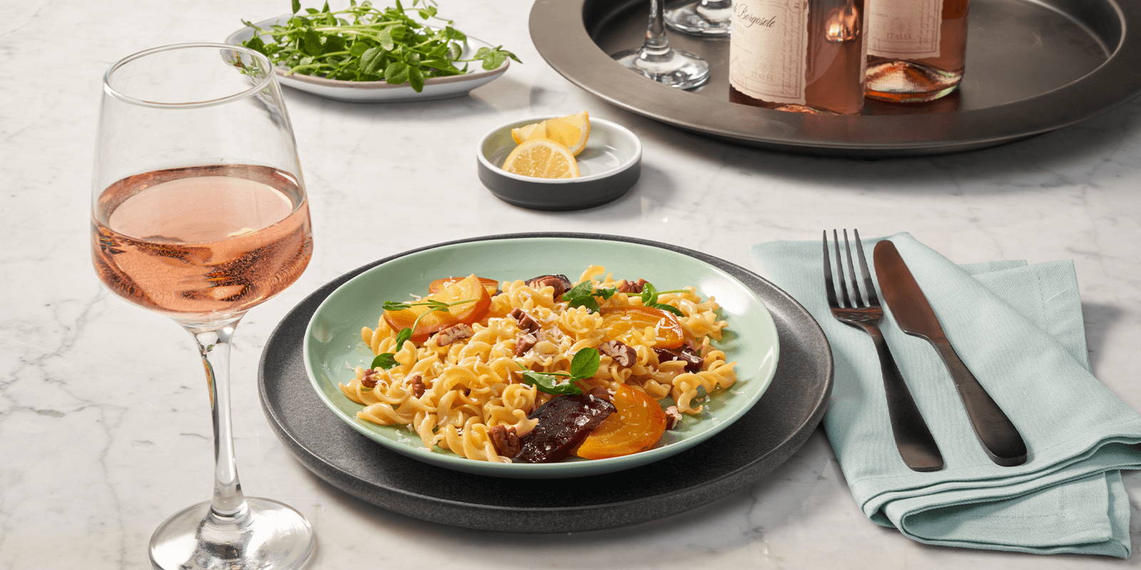
[{"label": "large wine glass of ros\u00e9 in the left foreground", "polygon": [[114,64],[103,81],[92,189],[99,279],[188,331],[210,390],[213,497],[154,531],[152,563],[300,568],[313,529],[282,503],[243,496],[229,414],[237,321],[297,280],[313,251],[273,65],[225,43],[164,46]]}]

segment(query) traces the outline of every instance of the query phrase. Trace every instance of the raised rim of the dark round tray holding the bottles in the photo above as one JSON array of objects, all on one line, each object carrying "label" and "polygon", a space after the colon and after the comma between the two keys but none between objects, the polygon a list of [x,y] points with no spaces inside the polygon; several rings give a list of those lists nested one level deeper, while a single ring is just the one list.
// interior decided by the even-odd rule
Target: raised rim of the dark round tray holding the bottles
[{"label": "raised rim of the dark round tray holding the bottles", "polygon": [[[955,152],[1061,129],[1141,95],[1141,74],[1136,73],[1141,68],[1141,34],[1133,33],[1141,28],[1141,2],[1123,5],[1118,0],[1097,0],[1109,5],[1120,19],[1120,42],[1108,59],[1089,74],[1037,97],[957,113],[830,116],[759,109],[728,101],[717,109],[710,109],[707,105],[694,108],[689,105],[693,101],[686,99],[689,93],[626,73],[594,43],[583,21],[589,1],[592,0],[536,0],[532,7],[532,42],[555,71],[617,107],[682,129],[746,144],[802,150]],[[626,5],[629,2],[614,2],[615,9]],[[1051,6],[1044,7],[1057,10]],[[687,108],[691,111],[685,111]],[[963,135],[884,139],[885,133],[904,124],[909,125],[904,132],[947,130],[947,116],[956,117],[955,131]],[[747,130],[741,125],[746,125]],[[807,130],[845,136],[814,138],[804,135]]]}]

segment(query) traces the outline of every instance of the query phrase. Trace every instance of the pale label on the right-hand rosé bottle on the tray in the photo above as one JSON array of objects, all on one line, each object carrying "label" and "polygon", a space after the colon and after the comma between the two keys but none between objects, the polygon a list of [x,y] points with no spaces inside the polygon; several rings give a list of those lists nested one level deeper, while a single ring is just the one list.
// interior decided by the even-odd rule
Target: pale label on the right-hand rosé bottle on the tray
[{"label": "pale label on the right-hand ros\u00e9 bottle on the tray", "polygon": [[867,52],[917,59],[939,56],[942,0],[875,0],[868,2]]}]

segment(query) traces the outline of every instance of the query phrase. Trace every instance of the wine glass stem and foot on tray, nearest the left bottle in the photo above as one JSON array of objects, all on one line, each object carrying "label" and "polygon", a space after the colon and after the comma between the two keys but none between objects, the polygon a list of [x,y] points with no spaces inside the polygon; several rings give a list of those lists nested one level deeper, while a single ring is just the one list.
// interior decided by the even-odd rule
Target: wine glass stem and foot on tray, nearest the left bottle
[{"label": "wine glass stem and foot on tray, nearest the left bottle", "polygon": [[701,56],[670,47],[663,23],[663,2],[649,1],[649,25],[642,46],[610,57],[658,83],[678,89],[699,87],[710,79],[710,64]]}]

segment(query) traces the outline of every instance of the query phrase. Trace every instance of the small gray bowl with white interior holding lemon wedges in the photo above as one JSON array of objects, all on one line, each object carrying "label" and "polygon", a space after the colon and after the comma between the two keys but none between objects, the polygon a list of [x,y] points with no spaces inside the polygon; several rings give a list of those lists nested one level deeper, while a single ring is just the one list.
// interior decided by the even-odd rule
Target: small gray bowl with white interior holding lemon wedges
[{"label": "small gray bowl with white interior holding lemon wedges", "polygon": [[641,140],[605,119],[590,120],[590,140],[578,160],[578,178],[532,178],[500,168],[517,146],[511,129],[550,116],[516,121],[493,129],[476,146],[479,180],[500,199],[532,210],[581,210],[617,199],[641,176]]}]

